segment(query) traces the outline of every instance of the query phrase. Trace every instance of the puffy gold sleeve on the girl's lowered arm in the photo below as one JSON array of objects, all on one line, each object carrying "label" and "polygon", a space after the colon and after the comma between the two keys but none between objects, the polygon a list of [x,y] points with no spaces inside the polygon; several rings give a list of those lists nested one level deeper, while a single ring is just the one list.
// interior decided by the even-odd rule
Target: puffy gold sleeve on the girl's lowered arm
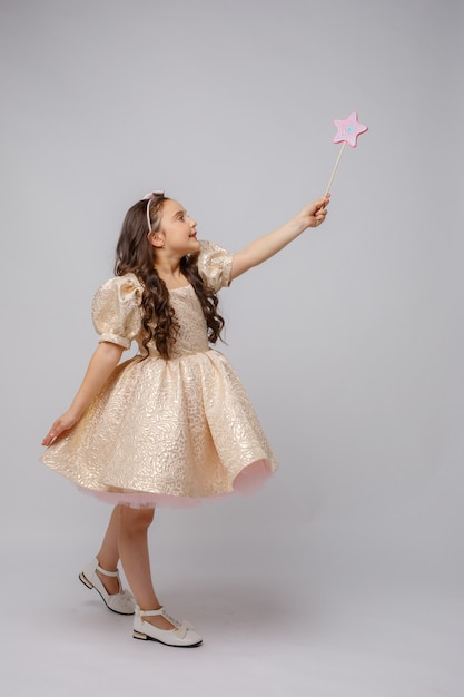
[{"label": "puffy gold sleeve on the girl's lowered arm", "polygon": [[93,326],[99,341],[130,348],[141,330],[142,286],[134,274],[116,276],[101,285],[93,296]]}]

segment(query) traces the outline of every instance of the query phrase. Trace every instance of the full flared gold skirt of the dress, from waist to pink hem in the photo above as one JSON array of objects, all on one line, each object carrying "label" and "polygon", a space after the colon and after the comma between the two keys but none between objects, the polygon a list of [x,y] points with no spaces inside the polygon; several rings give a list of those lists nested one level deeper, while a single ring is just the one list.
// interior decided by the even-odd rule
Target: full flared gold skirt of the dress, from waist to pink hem
[{"label": "full flared gold skirt of the dress, from waist to pink hem", "polygon": [[214,350],[122,363],[41,460],[137,507],[253,490],[277,467],[240,380]]}]

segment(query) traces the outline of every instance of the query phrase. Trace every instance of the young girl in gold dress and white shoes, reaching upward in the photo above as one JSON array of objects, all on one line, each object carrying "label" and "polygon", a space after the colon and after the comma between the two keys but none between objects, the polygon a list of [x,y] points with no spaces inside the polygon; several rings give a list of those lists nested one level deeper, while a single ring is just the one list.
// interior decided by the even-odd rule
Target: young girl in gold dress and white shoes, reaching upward
[{"label": "young girl in gold dress and white shoes, reaching upward", "polygon": [[[127,213],[116,277],[92,304],[100,335],[70,408],[41,460],[115,503],[97,557],[79,575],[110,610],[135,615],[134,637],[191,647],[201,637],[158,601],[147,531],[157,503],[191,503],[259,485],[277,462],[245,390],[210,348],[224,320],[216,293],[320,225],[328,196],[230,255],[197,239],[185,208],[154,192]],[[136,357],[120,364],[132,341]],[[121,560],[132,596],[121,588]]]}]

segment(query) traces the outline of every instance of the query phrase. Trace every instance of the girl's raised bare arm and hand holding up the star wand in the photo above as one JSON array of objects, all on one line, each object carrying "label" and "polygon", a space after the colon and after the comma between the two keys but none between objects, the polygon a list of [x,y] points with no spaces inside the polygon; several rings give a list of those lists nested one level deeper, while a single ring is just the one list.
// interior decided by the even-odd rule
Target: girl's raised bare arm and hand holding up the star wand
[{"label": "girl's raised bare arm and hand holding up the star wand", "polygon": [[324,223],[327,215],[329,194],[318,198],[309,206],[305,206],[298,215],[273,233],[259,237],[247,247],[234,254],[231,278],[237,278],[253,266],[258,266],[280,252],[290,242],[296,239],[307,227],[317,227]]}]

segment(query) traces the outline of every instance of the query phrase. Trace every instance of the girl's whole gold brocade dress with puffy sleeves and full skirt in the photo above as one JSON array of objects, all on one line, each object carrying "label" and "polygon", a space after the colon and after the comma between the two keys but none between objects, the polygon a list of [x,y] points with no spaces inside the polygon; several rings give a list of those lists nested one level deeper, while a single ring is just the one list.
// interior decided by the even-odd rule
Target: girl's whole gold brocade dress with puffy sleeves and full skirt
[{"label": "girl's whole gold brocade dress with puffy sleeves and full skirt", "polygon": [[[201,242],[198,269],[218,292],[230,283],[231,255]],[[79,422],[41,461],[111,503],[191,504],[253,490],[277,469],[245,389],[210,348],[192,286],[170,291],[180,331],[171,359],[141,342],[142,286],[134,274],[107,281],[92,318],[100,342],[139,354],[118,365]]]}]

